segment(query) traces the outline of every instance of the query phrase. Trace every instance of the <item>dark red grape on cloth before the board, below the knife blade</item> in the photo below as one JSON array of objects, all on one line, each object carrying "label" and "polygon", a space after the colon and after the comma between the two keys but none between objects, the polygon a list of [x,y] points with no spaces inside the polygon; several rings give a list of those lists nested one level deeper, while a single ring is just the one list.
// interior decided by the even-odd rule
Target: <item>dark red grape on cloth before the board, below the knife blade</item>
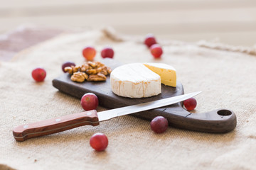
[{"label": "dark red grape on cloth before the board, below the knife blade", "polygon": [[156,133],[163,133],[168,128],[168,121],[163,116],[156,116],[150,123],[151,130]]}]

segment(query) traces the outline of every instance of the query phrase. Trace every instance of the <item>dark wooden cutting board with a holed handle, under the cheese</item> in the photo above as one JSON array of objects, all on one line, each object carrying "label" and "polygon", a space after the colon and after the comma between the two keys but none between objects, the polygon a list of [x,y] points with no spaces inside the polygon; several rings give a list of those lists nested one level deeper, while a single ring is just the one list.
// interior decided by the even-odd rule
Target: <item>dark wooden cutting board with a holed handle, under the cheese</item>
[{"label": "dark wooden cutting board with a holed handle, under the cheese", "polygon": [[[107,59],[103,60],[103,62],[112,69],[120,65],[115,60]],[[85,93],[89,92],[96,94],[99,98],[100,106],[110,109],[184,94],[181,82],[177,82],[176,88],[162,84],[161,94],[157,96],[149,98],[126,98],[112,93],[110,77],[107,77],[107,81],[85,81],[83,83],[77,83],[70,80],[70,75],[68,73],[53,79],[53,86],[59,89],[59,91],[76,98],[81,98]],[[228,109],[217,109],[208,113],[189,113],[183,108],[182,102],[150,111],[133,113],[131,115],[149,121],[157,115],[162,115],[169,121],[169,125],[172,127],[200,132],[230,132],[236,126],[236,116],[233,111]]]}]

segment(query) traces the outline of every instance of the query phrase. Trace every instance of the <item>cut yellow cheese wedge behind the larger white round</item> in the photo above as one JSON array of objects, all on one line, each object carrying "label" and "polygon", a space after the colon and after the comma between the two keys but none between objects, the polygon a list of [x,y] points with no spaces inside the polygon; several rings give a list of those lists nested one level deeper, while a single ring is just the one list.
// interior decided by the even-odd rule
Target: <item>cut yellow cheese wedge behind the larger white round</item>
[{"label": "cut yellow cheese wedge behind the larger white round", "polygon": [[176,87],[176,69],[174,67],[164,63],[144,63],[144,66],[159,74],[162,84]]}]

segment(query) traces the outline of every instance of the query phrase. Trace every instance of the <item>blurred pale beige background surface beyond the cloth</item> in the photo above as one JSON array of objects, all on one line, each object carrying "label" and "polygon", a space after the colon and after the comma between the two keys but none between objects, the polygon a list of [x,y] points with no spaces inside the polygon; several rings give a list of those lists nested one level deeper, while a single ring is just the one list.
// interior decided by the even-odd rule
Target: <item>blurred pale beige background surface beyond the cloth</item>
[{"label": "blurred pale beige background surface beyond the cloth", "polygon": [[0,0],[0,33],[23,24],[112,26],[119,33],[231,45],[256,44],[255,0]]}]

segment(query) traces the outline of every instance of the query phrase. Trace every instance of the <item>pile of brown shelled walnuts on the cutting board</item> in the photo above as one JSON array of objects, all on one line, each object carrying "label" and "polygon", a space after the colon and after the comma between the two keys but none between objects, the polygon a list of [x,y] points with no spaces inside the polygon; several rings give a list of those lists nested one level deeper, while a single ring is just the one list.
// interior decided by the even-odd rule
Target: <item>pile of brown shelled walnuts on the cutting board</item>
[{"label": "pile of brown shelled walnuts on the cutting board", "polygon": [[76,82],[105,81],[111,73],[110,67],[101,62],[85,62],[81,66],[65,67],[65,71],[71,74],[71,80]]}]

